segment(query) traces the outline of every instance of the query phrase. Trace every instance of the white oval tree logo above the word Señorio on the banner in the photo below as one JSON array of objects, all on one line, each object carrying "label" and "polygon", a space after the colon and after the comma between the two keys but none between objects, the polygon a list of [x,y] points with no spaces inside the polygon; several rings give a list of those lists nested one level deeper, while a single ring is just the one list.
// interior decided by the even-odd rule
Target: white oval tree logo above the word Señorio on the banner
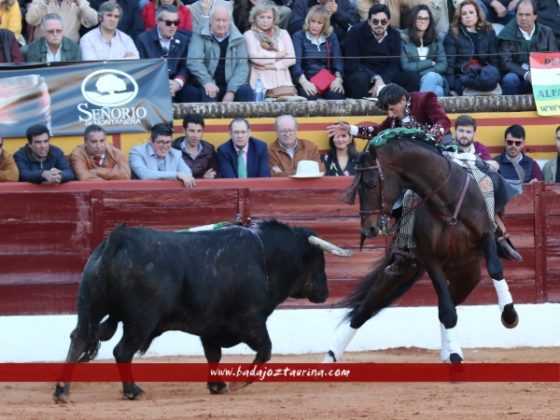
[{"label": "white oval tree logo above the word Se\u00f1orio on the banner", "polygon": [[97,70],[82,82],[82,95],[94,105],[122,106],[136,98],[138,83],[120,70]]}]

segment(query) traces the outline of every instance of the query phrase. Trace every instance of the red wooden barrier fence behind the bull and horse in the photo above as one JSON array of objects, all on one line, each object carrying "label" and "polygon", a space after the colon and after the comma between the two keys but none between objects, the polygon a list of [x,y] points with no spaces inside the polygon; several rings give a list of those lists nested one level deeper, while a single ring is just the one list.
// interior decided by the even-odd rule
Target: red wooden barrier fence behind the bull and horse
[{"label": "red wooden barrier fence behind the bull and horse", "polygon": [[[352,248],[350,258],[326,257],[331,297],[323,306],[336,306],[383,255],[388,241],[366,242],[359,252],[357,205],[341,199],[350,182],[345,177],[200,180],[193,190],[174,181],[0,184],[0,315],[75,312],[83,266],[119,223],[175,230],[237,214],[308,226],[326,240]],[[560,185],[526,185],[509,205],[506,225],[525,258],[505,264],[515,300],[560,301]],[[467,304],[495,301],[485,276]],[[435,302],[431,283],[422,279],[397,304]],[[284,307],[307,304],[290,300]]]}]

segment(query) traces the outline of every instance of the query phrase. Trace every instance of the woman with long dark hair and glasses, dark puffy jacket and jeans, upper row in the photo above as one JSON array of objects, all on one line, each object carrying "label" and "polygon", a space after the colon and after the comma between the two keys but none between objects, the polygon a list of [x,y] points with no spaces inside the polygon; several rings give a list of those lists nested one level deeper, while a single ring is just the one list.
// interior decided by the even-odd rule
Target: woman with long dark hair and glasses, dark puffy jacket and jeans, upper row
[{"label": "woman with long dark hair and glasses, dark puffy jacket and jeans, upper row", "polygon": [[402,31],[401,68],[418,75],[420,92],[444,96],[447,82],[447,57],[436,32],[432,13],[421,4],[410,12],[408,28]]}]

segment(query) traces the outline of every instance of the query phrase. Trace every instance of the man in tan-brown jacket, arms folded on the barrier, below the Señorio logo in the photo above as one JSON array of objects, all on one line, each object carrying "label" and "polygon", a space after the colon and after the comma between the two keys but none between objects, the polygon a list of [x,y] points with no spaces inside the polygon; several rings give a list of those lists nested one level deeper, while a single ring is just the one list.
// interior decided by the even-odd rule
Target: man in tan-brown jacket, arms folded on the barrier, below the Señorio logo
[{"label": "man in tan-brown jacket, arms folded on the barrier, below the Se\u00f1orio logo", "polygon": [[122,152],[107,143],[107,133],[95,124],[84,131],[84,144],[70,154],[70,166],[80,181],[130,179],[130,167]]}]

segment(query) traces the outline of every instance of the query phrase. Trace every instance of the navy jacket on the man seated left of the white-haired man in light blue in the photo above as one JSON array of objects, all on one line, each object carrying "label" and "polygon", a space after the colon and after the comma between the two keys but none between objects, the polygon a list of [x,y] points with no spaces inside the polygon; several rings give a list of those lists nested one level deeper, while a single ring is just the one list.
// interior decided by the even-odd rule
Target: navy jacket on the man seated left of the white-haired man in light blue
[{"label": "navy jacket on the man seated left of the white-haired man in light blue", "polygon": [[[191,32],[177,32],[173,37],[167,54],[167,69],[169,70],[170,79],[179,77],[186,83],[188,70],[185,57],[187,56],[190,40]],[[138,47],[140,58],[163,57],[157,28],[138,35],[136,46]]]}]

